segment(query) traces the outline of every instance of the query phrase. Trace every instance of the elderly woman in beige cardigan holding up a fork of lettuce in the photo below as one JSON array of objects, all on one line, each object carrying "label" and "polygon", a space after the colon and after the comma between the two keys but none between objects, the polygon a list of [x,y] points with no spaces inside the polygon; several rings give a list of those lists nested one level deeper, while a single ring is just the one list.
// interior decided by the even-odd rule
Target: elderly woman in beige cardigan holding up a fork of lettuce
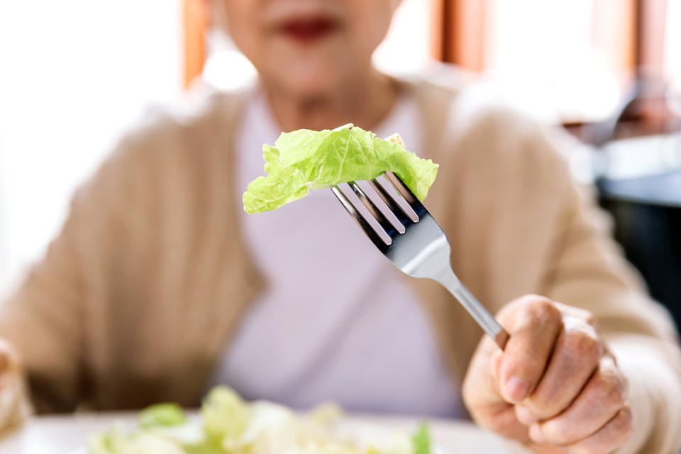
[{"label": "elderly woman in beige cardigan holding up a fork of lettuce", "polygon": [[[537,453],[674,449],[668,315],[543,128],[372,68],[396,4],[221,2],[258,86],[151,115],[79,189],[1,307],[5,425],[25,374],[40,412],[192,406],[229,384],[294,407],[468,413]],[[350,122],[441,164],[428,209],[511,333],[503,353],[443,289],[399,275],[331,192],[243,213],[262,143]]]}]

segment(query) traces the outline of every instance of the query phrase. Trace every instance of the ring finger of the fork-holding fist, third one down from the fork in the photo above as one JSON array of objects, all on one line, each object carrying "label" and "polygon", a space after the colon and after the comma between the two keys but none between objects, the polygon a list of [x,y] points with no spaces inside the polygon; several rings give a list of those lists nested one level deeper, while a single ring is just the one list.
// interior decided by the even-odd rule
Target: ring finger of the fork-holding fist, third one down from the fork
[{"label": "ring finger of the fork-holding fist, third one down from the fork", "polygon": [[604,357],[575,402],[559,416],[531,426],[530,437],[559,445],[587,438],[625,406],[626,394],[626,380],[614,360]]}]

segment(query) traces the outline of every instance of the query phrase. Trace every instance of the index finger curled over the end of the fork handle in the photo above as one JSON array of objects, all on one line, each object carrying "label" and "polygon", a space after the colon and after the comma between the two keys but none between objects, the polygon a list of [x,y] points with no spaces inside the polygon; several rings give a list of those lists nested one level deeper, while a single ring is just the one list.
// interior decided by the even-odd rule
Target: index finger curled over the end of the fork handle
[{"label": "index finger curled over the end of the fork handle", "polygon": [[527,297],[514,316],[511,337],[499,367],[499,389],[508,402],[525,399],[546,368],[562,326],[560,311],[548,299]]}]

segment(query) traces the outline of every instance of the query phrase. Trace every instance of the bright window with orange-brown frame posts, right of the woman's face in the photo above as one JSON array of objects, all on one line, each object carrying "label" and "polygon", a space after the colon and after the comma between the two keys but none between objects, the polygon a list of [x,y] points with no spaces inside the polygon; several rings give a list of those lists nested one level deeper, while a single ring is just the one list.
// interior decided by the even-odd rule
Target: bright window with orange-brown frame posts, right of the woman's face
[{"label": "bright window with orange-brown frame posts, right of the woman's face", "polygon": [[481,72],[548,121],[609,118],[642,74],[681,84],[681,0],[435,4],[441,60]]}]

